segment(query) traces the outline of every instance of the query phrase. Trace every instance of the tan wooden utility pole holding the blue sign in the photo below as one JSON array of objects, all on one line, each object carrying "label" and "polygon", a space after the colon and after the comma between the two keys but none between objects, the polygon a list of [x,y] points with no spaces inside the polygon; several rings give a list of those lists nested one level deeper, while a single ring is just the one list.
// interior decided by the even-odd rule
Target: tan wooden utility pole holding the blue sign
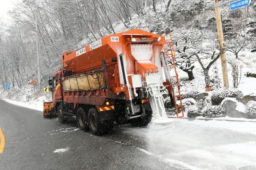
[{"label": "tan wooden utility pole holding the blue sign", "polygon": [[[219,0],[213,0],[214,3],[219,3]],[[222,29],[222,22],[221,22],[221,14],[219,6],[215,6],[215,14],[216,14],[216,25],[217,25],[217,32],[218,32],[218,38],[219,38],[219,47],[220,49],[223,49],[224,47],[224,37],[223,37],[223,29]],[[225,88],[229,88],[228,84],[228,75],[227,75],[227,61],[225,53],[222,53],[220,55],[221,59],[221,66],[222,66],[222,75],[223,75],[223,83]]]}]

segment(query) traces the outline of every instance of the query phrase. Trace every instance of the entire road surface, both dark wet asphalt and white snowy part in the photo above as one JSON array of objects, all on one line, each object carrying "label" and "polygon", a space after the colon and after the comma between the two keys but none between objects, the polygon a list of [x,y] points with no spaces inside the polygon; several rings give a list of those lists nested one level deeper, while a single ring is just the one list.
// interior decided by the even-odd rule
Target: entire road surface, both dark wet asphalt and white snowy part
[{"label": "entire road surface, both dark wet asphalt and white snowy part", "polygon": [[0,100],[0,169],[256,170],[256,123],[173,119],[94,136]]}]

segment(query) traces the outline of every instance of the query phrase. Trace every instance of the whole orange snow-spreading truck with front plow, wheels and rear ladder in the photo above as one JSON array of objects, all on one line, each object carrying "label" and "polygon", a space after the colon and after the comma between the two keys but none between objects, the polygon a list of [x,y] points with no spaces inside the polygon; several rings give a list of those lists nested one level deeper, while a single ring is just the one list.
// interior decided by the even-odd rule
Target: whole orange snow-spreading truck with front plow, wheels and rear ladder
[{"label": "whole orange snow-spreading truck with front plow, wheels and rear ladder", "polygon": [[154,123],[165,123],[162,93],[170,95],[177,118],[183,117],[170,34],[116,33],[64,52],[61,64],[48,81],[52,102],[44,102],[44,117],[76,119],[80,130],[95,135],[111,131],[114,121],[141,127],[153,116]]}]

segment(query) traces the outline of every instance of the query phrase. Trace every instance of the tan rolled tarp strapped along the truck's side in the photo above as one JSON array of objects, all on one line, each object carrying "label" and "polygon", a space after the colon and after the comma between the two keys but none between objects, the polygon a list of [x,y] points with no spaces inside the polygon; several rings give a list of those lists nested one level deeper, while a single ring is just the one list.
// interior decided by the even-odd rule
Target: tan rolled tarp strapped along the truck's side
[{"label": "tan rolled tarp strapped along the truck's side", "polygon": [[[98,75],[98,77],[97,77]],[[98,80],[99,78],[99,80]],[[99,90],[105,87],[103,81],[103,72],[96,72],[91,75],[82,75],[73,77],[62,82],[63,90],[77,91],[77,90]]]}]

